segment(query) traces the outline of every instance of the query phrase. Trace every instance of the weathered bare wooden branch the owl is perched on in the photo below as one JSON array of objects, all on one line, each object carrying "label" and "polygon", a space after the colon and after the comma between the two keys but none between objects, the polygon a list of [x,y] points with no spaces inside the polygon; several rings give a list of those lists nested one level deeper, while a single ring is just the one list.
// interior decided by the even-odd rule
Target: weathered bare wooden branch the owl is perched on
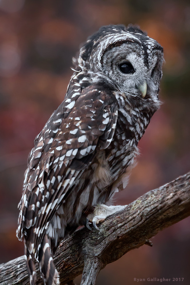
[{"label": "weathered bare wooden branch the owl is perched on", "polygon": [[[81,285],[94,285],[106,264],[144,244],[151,246],[151,237],[189,215],[190,172],[108,217],[100,231],[79,229],[63,241],[54,257],[61,284],[83,272]],[[37,279],[41,285],[39,270]],[[0,265],[0,285],[7,284],[29,284],[24,256]]]}]

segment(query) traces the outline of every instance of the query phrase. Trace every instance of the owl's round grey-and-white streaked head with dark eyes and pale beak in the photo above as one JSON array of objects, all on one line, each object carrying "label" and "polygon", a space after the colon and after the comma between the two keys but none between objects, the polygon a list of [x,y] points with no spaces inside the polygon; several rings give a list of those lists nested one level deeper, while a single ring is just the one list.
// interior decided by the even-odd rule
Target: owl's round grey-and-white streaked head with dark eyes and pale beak
[{"label": "owl's round grey-and-white streaked head with dark eyes and pale beak", "polygon": [[158,97],[163,48],[135,26],[109,25],[87,39],[74,60],[92,82],[106,82],[129,97]]}]

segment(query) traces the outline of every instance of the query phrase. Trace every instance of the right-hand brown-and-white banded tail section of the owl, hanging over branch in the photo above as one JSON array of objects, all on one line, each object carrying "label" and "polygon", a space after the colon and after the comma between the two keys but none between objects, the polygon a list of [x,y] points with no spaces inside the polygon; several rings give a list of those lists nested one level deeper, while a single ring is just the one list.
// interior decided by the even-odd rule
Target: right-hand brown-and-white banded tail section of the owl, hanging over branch
[{"label": "right-hand brown-and-white banded tail section of the owl, hanging over branch", "polygon": [[45,280],[45,284],[59,285],[59,273],[53,262],[50,239],[48,239],[47,235],[44,235],[44,239],[39,250],[38,260],[40,271],[43,274],[42,279]]}]

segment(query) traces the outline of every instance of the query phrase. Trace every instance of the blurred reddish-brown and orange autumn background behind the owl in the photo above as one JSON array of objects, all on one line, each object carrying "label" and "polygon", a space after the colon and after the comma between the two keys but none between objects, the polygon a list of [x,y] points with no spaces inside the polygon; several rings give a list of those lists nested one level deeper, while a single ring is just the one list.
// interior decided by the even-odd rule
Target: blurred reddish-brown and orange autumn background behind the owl
[{"label": "blurred reddish-brown and orange autumn background behind the owl", "polygon": [[[128,204],[189,171],[189,1],[0,0],[1,263],[23,255],[15,233],[27,156],[64,99],[72,56],[102,25],[129,23],[164,47],[163,104],[139,143],[138,164],[115,204]],[[183,284],[190,284],[189,225],[190,218],[184,219],[152,238],[152,248],[144,245],[107,265],[97,285],[130,285],[134,278],[148,277],[184,278]]]}]

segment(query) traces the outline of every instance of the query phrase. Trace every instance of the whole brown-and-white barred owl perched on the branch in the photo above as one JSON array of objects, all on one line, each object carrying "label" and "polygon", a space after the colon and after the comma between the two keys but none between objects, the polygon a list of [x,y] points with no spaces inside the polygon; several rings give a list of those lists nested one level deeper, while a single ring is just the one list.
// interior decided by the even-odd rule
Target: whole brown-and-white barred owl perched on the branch
[{"label": "whole brown-and-white barred owl perched on the branch", "polygon": [[59,284],[52,256],[79,225],[97,224],[125,188],[137,144],[158,109],[163,48],[136,26],[101,27],[73,58],[64,101],[34,141],[19,203],[30,284]]}]

